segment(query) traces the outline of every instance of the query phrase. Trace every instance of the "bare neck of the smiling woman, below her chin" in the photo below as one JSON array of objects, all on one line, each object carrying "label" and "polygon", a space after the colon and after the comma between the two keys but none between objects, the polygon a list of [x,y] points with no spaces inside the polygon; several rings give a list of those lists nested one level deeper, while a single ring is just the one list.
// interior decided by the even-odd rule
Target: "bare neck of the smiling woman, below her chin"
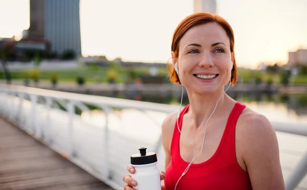
[{"label": "bare neck of the smiling woman, below her chin", "polygon": [[218,89],[212,94],[199,94],[194,91],[190,91],[189,89],[187,89],[187,93],[189,96],[193,126],[195,126],[196,128],[198,128],[201,124],[206,123],[206,121],[214,111],[217,101],[218,103],[214,114],[211,116],[211,119],[212,117],[216,116],[217,113],[223,112],[223,105],[225,105],[227,100],[229,99],[229,96],[224,93],[224,88]]}]

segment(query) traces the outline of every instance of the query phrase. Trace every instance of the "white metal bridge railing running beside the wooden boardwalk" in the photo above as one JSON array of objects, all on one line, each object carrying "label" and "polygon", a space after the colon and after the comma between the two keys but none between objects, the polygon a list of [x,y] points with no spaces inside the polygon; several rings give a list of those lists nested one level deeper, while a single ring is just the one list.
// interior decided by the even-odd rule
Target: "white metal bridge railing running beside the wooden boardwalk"
[{"label": "white metal bridge railing running beside the wooden boardwalk", "polygon": [[[96,124],[86,104],[101,110]],[[84,120],[75,114],[76,108],[90,117]],[[132,123],[123,123],[117,109],[134,109],[147,120],[136,122],[139,114],[137,119],[130,118]],[[140,146],[159,152],[158,159],[164,159],[161,118],[177,111],[174,105],[0,85],[0,115],[115,189],[123,188],[129,156]],[[307,136],[301,124],[272,124],[276,131]],[[164,161],[158,163],[164,170]],[[294,189],[306,173],[307,153],[286,180],[286,189]]]}]

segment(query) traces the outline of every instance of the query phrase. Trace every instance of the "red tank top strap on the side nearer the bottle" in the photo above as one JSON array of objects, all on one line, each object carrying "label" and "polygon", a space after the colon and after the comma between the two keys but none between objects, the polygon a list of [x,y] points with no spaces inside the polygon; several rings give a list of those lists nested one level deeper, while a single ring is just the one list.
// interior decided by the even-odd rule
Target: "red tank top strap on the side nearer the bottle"
[{"label": "red tank top strap on the side nearer the bottle", "polygon": [[[181,111],[178,120],[176,120],[176,122],[174,123],[174,131],[173,131],[173,135],[172,135],[172,140],[171,140],[171,145],[170,145],[170,152],[175,153],[176,150],[179,148],[179,138],[180,138],[180,132],[178,130],[181,130],[181,126],[182,126],[182,120],[183,120],[183,116],[184,114],[188,111],[190,104],[187,104],[183,110]],[[177,125],[178,122],[178,125]]]}]

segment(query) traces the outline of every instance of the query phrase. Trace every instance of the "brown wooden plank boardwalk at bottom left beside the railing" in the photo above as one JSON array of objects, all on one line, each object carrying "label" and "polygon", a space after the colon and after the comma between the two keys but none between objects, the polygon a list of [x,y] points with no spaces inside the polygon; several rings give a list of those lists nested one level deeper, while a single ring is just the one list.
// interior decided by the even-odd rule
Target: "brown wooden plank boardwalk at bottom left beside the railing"
[{"label": "brown wooden plank boardwalk at bottom left beside the railing", "polygon": [[0,189],[113,188],[0,117]]}]

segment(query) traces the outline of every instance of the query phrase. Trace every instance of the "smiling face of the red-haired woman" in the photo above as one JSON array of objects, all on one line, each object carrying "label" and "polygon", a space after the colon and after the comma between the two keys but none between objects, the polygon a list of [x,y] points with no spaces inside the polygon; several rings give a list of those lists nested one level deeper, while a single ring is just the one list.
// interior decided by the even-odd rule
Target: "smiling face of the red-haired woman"
[{"label": "smiling face of the red-haired woman", "polygon": [[221,25],[194,26],[181,38],[177,63],[181,84],[198,93],[213,93],[229,83],[233,60],[229,38]]}]

